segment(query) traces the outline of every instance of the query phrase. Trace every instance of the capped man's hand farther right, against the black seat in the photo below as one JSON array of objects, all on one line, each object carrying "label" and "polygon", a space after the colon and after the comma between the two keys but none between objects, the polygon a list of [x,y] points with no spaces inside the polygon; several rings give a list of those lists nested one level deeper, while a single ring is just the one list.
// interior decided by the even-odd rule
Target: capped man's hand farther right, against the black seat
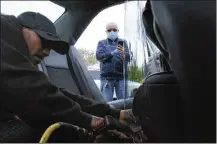
[{"label": "capped man's hand farther right, against the black seat", "polygon": [[125,125],[128,125],[129,123],[135,123],[136,118],[133,115],[132,109],[121,110],[119,121]]}]

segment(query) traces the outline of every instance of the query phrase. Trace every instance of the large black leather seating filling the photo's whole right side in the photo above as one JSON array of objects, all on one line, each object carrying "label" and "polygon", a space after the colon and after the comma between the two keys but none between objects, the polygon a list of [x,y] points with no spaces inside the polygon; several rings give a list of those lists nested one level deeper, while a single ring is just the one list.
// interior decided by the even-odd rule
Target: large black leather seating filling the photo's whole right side
[{"label": "large black leather seating filling the photo's whole right side", "polygon": [[174,74],[147,77],[134,100],[140,112],[137,103],[134,113],[152,142],[215,142],[215,1],[151,1],[150,9],[147,35]]}]

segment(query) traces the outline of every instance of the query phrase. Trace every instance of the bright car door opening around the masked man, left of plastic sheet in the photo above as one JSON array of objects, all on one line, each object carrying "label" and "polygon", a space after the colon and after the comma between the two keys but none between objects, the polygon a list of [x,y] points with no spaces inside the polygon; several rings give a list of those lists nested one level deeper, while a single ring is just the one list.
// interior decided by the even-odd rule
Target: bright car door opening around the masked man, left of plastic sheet
[{"label": "bright car door opening around the masked man, left of plastic sheet", "polygon": [[[105,27],[109,22],[119,26],[119,36],[124,38],[124,4],[115,5],[99,12],[87,26],[75,43],[89,73],[100,89],[100,62],[96,60],[96,48],[99,40],[106,38]],[[114,93],[114,99],[116,94]]]}]

